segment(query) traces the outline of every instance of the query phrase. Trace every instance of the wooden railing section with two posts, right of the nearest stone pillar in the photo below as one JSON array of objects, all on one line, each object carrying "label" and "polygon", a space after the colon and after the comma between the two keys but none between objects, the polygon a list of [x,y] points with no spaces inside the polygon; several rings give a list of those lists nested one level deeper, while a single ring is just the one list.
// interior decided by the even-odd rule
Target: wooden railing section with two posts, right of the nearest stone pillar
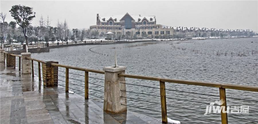
[{"label": "wooden railing section with two posts, right of the nearest stone pillar", "polygon": [[[167,123],[167,103],[166,103],[165,82],[186,84],[186,85],[205,86],[205,87],[217,87],[217,88],[219,88],[220,99],[225,101],[221,105],[221,106],[225,106],[225,111],[226,111],[226,106],[227,106],[226,105],[226,89],[236,89],[236,90],[243,90],[243,91],[258,92],[258,87],[245,86],[245,85],[231,85],[231,84],[223,84],[223,83],[186,81],[186,80],[166,79],[166,78],[159,78],[159,77],[148,77],[148,76],[130,75],[130,74],[118,74],[118,77],[127,77],[127,78],[134,78],[134,79],[159,81],[159,83],[160,83],[162,123]],[[222,124],[227,124],[228,123],[227,113],[222,113],[222,109],[221,109],[221,122],[222,122]]]}]

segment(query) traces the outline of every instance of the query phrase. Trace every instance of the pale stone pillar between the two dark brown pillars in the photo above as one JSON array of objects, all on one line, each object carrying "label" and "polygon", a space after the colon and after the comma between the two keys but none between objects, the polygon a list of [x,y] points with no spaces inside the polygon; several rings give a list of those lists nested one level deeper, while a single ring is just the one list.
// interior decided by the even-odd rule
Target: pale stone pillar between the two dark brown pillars
[{"label": "pale stone pillar between the two dark brown pillars", "polygon": [[30,57],[31,53],[21,53],[21,72],[23,74],[31,73],[31,60],[26,59],[26,57]]}]

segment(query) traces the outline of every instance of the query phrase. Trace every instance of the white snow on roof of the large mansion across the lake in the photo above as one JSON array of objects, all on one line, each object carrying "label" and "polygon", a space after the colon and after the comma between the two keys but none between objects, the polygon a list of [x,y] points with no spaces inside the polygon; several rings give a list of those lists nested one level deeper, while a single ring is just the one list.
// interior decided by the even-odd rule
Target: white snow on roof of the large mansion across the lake
[{"label": "white snow on roof of the large mansion across the lake", "polygon": [[[116,21],[114,20],[114,22],[120,22],[119,20],[122,19],[125,15],[99,16],[99,20],[100,20],[100,22],[107,22],[107,20],[112,18],[113,20],[116,19]],[[152,15],[152,16],[130,15],[130,16],[135,20],[135,22],[141,22],[142,19],[144,19],[144,18],[146,18],[148,20],[148,22],[155,21],[155,15]],[[105,21],[103,21],[104,18],[105,18]],[[150,21],[150,18],[152,18],[152,21]],[[140,19],[140,21],[138,21],[138,19]]]}]

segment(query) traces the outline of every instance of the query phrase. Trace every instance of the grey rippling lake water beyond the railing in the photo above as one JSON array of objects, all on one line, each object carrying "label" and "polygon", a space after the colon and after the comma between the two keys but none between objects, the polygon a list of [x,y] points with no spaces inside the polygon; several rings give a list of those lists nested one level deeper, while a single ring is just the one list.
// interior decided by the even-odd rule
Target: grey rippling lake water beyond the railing
[{"label": "grey rippling lake water beyond the railing", "polygon": [[[128,74],[163,77],[170,79],[184,79],[191,81],[257,86],[258,52],[255,54],[255,51],[258,51],[257,42],[257,38],[239,38],[83,45],[50,49],[50,52],[47,53],[33,53],[32,57],[44,61],[58,61],[60,64],[65,65],[102,70],[103,67],[114,65],[114,51],[117,51],[118,65],[127,67],[126,73]],[[91,51],[95,51],[99,54],[91,52],[89,50],[90,48],[92,48]],[[65,71],[64,68],[59,68],[59,70]],[[84,75],[84,72],[82,71],[70,69],[69,72]],[[65,76],[63,72],[59,72],[58,75]],[[69,77],[84,81],[84,77],[79,75],[69,74]],[[104,75],[101,74],[89,73],[89,76],[104,79]],[[58,79],[65,81],[65,78],[61,76],[59,76]],[[99,79],[89,78],[89,83],[104,86],[104,81]],[[84,86],[84,82],[81,81],[69,79],[69,82]],[[58,81],[58,83],[64,85],[64,82],[62,81]],[[158,81],[126,78],[126,83],[159,88]],[[99,91],[104,91],[104,88],[97,85],[89,84],[89,88],[91,88],[89,89],[89,93],[103,98],[103,93]],[[161,111],[161,106],[159,105],[160,97],[138,94],[144,93],[159,96],[159,89],[136,85],[126,85],[127,91],[136,92],[127,92],[127,97],[140,99],[142,101],[128,98],[127,105]],[[84,87],[71,84],[69,87],[84,91]],[[181,123],[208,123],[205,121],[221,123],[220,115],[204,115],[206,106],[211,102],[219,101],[219,97],[201,95],[219,95],[218,88],[166,83],[166,89],[177,90],[166,90],[167,113],[173,114],[168,114],[169,118],[179,120]],[[84,95],[84,93],[78,91],[75,91],[75,93]],[[230,89],[226,89],[226,96],[255,101],[257,101],[258,98],[257,92]],[[91,95],[89,95],[89,98],[101,100]],[[148,103],[145,101],[153,103]],[[250,107],[249,114],[228,113],[228,116],[257,121],[257,102],[230,98],[227,98],[226,102],[230,107]],[[128,110],[153,117],[161,117],[160,112],[138,109],[134,107],[128,107]],[[181,109],[178,107],[187,109]],[[191,117],[194,119],[180,117],[177,115]],[[229,123],[257,123],[233,117],[228,117]],[[201,119],[205,121],[195,119]]]}]

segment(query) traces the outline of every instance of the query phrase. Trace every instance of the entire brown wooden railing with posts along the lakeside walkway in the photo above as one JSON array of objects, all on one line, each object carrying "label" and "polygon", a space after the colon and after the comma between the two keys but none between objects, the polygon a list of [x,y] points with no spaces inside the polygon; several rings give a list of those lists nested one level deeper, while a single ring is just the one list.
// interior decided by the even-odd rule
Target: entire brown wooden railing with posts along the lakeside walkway
[{"label": "entire brown wooden railing with posts along the lakeside walkway", "polygon": [[[4,52],[5,54],[9,54]],[[10,54],[13,57],[19,57],[19,69],[20,69],[20,58],[19,55]],[[39,80],[40,77],[40,63],[45,63],[45,61],[34,59],[31,57],[26,57],[26,59],[30,59],[32,63],[32,75],[34,75],[34,61],[38,62],[38,76]],[[54,71],[54,67],[63,67],[65,68],[65,91],[68,92],[69,90],[69,69],[84,71],[85,76],[85,99],[89,99],[89,72],[105,74],[104,71],[95,70],[95,69],[87,69],[82,67],[74,67],[69,65],[62,65],[62,64],[51,64],[51,72]],[[226,111],[226,89],[235,89],[235,90],[242,90],[242,91],[253,91],[258,92],[258,87],[255,86],[246,86],[246,85],[231,85],[231,84],[224,84],[224,83],[209,83],[209,82],[200,82],[200,81],[187,81],[187,80],[178,80],[178,79],[167,79],[167,78],[159,78],[159,77],[149,77],[149,76],[141,76],[141,75],[130,75],[130,74],[118,74],[118,77],[125,77],[125,78],[133,78],[133,79],[143,79],[143,80],[150,80],[150,81],[159,81],[160,84],[160,98],[161,98],[161,115],[162,115],[162,122],[167,123],[167,103],[166,103],[166,88],[165,82],[168,83],[177,83],[177,84],[185,84],[185,85],[196,85],[196,86],[204,86],[204,87],[216,87],[219,90],[219,97],[220,99],[224,100],[225,102],[221,106],[225,106]],[[53,77],[52,77],[53,79]],[[76,90],[76,89],[75,89]],[[223,113],[221,110],[221,122],[222,124],[228,123],[227,113]]]}]

